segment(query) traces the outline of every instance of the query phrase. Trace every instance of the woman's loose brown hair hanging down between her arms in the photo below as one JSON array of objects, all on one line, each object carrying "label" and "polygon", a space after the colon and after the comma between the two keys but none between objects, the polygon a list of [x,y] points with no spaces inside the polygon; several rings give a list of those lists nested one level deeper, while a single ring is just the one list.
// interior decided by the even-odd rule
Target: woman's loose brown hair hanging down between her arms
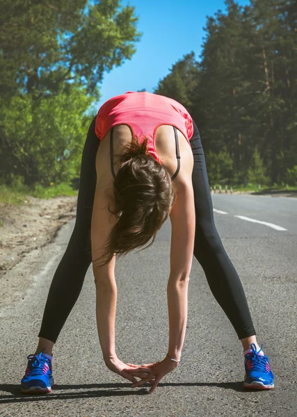
[{"label": "woman's loose brown hair hanging down between her arms", "polygon": [[[116,215],[118,222],[111,229],[104,254],[104,266],[113,255],[124,256],[137,247],[142,247],[152,238],[168,215],[176,199],[176,187],[168,170],[147,153],[148,138],[139,143],[132,137],[131,144],[124,145],[125,153],[120,156],[120,169],[113,181],[115,210],[109,213]],[[139,251],[140,252],[140,251]]]}]

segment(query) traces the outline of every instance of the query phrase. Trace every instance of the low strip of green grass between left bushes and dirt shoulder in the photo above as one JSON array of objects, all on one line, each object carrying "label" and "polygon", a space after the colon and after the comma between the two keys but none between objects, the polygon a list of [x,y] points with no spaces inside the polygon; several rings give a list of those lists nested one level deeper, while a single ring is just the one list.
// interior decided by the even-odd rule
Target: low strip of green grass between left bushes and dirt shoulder
[{"label": "low strip of green grass between left bushes and dirt shoulder", "polygon": [[0,203],[20,206],[24,204],[24,200],[26,200],[28,195],[41,199],[49,199],[58,197],[59,195],[77,195],[77,190],[73,190],[67,183],[53,184],[49,187],[37,184],[33,189],[19,184],[14,187],[0,186]]}]

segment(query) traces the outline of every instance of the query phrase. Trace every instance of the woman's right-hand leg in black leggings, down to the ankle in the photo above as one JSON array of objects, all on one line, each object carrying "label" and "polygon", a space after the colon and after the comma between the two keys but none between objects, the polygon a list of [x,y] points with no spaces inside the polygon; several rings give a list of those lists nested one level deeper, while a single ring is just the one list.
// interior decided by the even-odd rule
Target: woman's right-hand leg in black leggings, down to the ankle
[{"label": "woman's right-hand leg in black leggings, down to the ankle", "polygon": [[195,123],[190,143],[194,156],[192,176],[196,221],[194,255],[205,272],[211,292],[225,311],[239,339],[242,339],[243,349],[245,347],[248,349],[250,343],[255,343],[255,329],[241,281],[225,252],[214,224],[204,153]]}]

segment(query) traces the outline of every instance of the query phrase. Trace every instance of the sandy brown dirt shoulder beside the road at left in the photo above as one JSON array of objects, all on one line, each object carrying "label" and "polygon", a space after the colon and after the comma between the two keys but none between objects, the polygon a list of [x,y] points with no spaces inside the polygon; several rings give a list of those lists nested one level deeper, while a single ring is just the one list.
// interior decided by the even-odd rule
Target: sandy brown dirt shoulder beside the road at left
[{"label": "sandy brown dirt shoulder beside the road at left", "polygon": [[51,242],[63,224],[76,216],[76,206],[77,196],[26,197],[23,206],[1,203],[0,282],[26,254]]}]

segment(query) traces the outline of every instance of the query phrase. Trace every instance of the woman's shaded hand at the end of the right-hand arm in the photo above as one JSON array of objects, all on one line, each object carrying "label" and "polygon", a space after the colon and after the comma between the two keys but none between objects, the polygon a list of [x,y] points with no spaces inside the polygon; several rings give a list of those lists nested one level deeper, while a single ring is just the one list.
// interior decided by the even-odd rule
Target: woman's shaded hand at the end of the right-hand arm
[{"label": "woman's shaded hand at the end of the right-hand arm", "polygon": [[[146,382],[150,382],[150,384],[152,384],[152,388],[148,391],[148,393],[152,393],[156,389],[156,386],[159,384],[161,379],[165,377],[165,375],[167,375],[168,373],[172,372],[172,370],[174,370],[177,367],[177,364],[177,362],[172,361],[171,359],[166,357],[161,362],[150,363],[150,365],[143,365],[147,367],[147,369],[150,369],[151,372],[147,375],[143,375],[143,377],[141,377],[141,381],[136,382],[136,384],[134,383],[132,385],[132,388],[143,386],[143,384],[145,384]],[[127,365],[132,366],[131,363],[128,363]],[[131,369],[127,370],[127,373],[135,377],[138,376],[136,375],[136,373],[134,373],[134,370]]]}]

